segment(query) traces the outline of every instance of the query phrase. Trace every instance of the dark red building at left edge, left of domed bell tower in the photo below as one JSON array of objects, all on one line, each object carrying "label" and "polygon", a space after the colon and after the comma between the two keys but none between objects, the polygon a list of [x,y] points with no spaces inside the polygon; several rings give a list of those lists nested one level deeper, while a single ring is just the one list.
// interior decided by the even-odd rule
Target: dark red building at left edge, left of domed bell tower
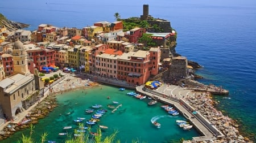
[{"label": "dark red building at left edge, left of domed bell tower", "polygon": [[3,70],[5,71],[5,76],[10,76],[14,74],[13,57],[10,54],[2,54]]}]

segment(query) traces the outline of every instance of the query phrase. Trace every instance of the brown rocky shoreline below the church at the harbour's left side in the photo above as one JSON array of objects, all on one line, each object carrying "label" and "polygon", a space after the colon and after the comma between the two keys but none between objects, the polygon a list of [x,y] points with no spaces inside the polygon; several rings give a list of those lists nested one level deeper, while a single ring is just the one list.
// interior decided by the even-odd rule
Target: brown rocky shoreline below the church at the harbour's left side
[{"label": "brown rocky shoreline below the church at the harbour's left side", "polygon": [[56,106],[56,96],[50,95],[46,97],[46,99],[38,103],[34,109],[28,112],[21,122],[10,122],[6,127],[4,127],[3,130],[0,131],[0,140],[5,140],[15,132],[23,131],[23,129],[30,127],[31,124],[38,123],[39,119],[45,118]]}]

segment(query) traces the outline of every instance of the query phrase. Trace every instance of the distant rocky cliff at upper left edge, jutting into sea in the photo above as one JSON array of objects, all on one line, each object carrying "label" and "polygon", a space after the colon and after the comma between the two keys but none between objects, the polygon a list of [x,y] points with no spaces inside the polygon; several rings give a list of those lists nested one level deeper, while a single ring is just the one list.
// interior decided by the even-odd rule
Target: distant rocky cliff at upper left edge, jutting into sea
[{"label": "distant rocky cliff at upper left edge, jutting into sea", "polygon": [[22,29],[22,28],[25,28],[25,27],[29,27],[30,25],[29,24],[24,24],[24,23],[18,23],[18,22],[15,22],[15,21],[11,21],[11,20],[8,20],[7,18],[5,18],[5,16],[3,16],[1,13],[0,13],[0,26],[5,26],[9,31],[14,31],[16,29]]}]

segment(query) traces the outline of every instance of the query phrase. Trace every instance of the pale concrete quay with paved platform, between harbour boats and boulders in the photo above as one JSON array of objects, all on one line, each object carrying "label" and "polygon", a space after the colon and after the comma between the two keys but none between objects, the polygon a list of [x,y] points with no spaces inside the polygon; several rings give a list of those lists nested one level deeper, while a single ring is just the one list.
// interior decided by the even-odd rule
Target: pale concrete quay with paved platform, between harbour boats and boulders
[{"label": "pale concrete quay with paved platform, between harbour boats and boulders", "polygon": [[137,86],[136,90],[140,94],[158,99],[159,102],[167,103],[179,110],[180,114],[200,132],[201,136],[193,137],[193,141],[210,141],[225,137],[216,127],[205,119],[200,112],[193,114],[195,109],[182,99],[184,96],[195,96],[195,93],[192,93],[193,90],[181,88],[176,85],[162,85],[156,90],[144,88],[144,85],[141,85]]}]

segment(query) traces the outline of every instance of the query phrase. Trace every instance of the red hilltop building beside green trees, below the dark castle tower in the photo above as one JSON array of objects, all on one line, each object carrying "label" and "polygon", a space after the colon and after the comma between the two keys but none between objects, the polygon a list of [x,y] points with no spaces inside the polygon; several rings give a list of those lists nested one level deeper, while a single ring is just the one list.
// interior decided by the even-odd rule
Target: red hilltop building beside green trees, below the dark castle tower
[{"label": "red hilltop building beside green trees, below the dark castle tower", "polygon": [[143,33],[146,33],[146,29],[133,28],[125,33],[125,38],[127,38],[131,43],[137,43],[139,38],[142,37]]}]

